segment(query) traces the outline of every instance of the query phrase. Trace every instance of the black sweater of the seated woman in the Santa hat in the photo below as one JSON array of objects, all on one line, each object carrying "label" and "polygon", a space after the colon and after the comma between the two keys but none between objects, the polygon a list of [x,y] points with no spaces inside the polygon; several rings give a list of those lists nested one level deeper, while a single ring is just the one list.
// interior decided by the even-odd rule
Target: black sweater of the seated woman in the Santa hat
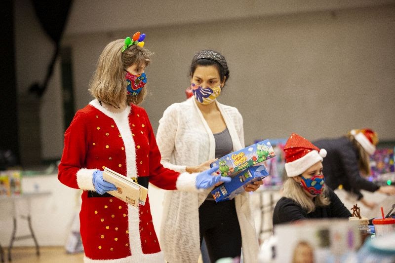
[{"label": "black sweater of the seated woman in the Santa hat", "polygon": [[328,188],[328,197],[330,200],[330,204],[328,206],[316,207],[316,210],[309,214],[293,199],[281,197],[276,203],[276,207],[273,212],[273,225],[301,219],[351,217],[351,212],[344,206],[336,193],[334,193],[330,188]]}]

